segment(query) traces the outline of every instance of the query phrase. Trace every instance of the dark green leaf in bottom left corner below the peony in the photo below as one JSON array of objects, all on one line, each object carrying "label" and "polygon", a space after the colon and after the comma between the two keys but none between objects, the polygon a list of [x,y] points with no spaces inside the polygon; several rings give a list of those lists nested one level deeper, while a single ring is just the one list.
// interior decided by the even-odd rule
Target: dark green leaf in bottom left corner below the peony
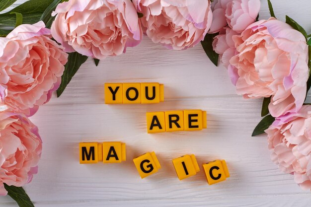
[{"label": "dark green leaf in bottom left corner below the peony", "polygon": [[19,207],[34,207],[29,196],[26,194],[22,187],[8,186],[4,183],[4,188],[9,195]]}]

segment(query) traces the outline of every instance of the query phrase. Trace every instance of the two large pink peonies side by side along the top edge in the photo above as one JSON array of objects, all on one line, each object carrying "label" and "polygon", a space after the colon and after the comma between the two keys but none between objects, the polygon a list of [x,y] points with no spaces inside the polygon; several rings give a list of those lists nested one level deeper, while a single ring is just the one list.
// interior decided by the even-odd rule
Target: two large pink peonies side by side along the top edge
[{"label": "two large pink peonies side by side along the top edge", "polygon": [[169,49],[193,47],[213,19],[210,0],[69,0],[52,15],[52,35],[66,52],[99,60],[137,46],[143,33]]}]

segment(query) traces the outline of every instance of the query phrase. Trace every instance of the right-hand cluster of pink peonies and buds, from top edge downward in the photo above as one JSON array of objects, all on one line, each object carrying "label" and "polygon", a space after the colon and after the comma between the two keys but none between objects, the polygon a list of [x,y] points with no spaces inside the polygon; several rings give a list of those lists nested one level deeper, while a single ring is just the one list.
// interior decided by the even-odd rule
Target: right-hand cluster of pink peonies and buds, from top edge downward
[{"label": "right-hand cluster of pink peonies and buds, from top edge downward", "polygon": [[311,107],[303,106],[309,77],[306,37],[273,17],[255,22],[259,8],[259,0],[215,0],[218,18],[209,32],[219,34],[213,48],[237,94],[271,97],[269,112],[276,118],[266,130],[271,159],[294,174],[303,189],[311,189]]}]

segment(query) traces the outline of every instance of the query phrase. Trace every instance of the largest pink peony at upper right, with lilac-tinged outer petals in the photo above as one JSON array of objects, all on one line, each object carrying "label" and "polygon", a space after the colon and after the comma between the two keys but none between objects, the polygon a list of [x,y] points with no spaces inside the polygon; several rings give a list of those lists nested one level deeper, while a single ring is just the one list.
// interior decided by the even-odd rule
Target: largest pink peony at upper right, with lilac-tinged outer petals
[{"label": "largest pink peony at upper right, with lilac-tinged outer petals", "polygon": [[[244,98],[270,97],[273,117],[296,113],[307,90],[308,46],[302,33],[275,18],[249,25],[233,36],[236,92]],[[234,77],[235,78],[235,77]]]}]

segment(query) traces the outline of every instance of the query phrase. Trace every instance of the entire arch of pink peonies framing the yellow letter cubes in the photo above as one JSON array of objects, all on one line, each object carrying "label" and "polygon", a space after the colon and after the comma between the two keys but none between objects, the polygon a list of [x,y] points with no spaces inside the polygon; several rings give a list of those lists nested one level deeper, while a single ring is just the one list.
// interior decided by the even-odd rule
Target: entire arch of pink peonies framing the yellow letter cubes
[{"label": "entire arch of pink peonies framing the yellow letter cubes", "polygon": [[257,21],[259,9],[260,0],[68,0],[52,13],[51,30],[40,21],[1,37],[0,195],[7,193],[3,183],[23,186],[37,173],[42,141],[27,117],[59,87],[66,52],[103,60],[137,46],[144,33],[173,50],[218,33],[213,48],[236,93],[271,97],[271,159],[311,189],[311,106],[303,106],[306,37],[275,18]]}]

